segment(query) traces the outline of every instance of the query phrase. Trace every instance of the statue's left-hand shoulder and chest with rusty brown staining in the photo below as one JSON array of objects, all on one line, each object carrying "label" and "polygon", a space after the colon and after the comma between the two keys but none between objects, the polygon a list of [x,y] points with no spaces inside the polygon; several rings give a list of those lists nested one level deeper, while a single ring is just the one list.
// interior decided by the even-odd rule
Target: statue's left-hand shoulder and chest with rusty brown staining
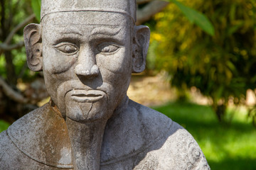
[{"label": "statue's left-hand shoulder and chest with rusty brown staining", "polygon": [[[33,162],[36,161],[40,167],[45,165],[72,167],[65,120],[53,111],[49,103],[16,120],[1,135],[3,136],[3,140],[0,140],[2,148],[11,148],[2,155],[3,160],[14,152],[14,157],[9,159],[9,162],[15,162],[18,159],[32,164],[34,160]],[[66,161],[57,157],[61,155],[59,152],[65,152]]]}]

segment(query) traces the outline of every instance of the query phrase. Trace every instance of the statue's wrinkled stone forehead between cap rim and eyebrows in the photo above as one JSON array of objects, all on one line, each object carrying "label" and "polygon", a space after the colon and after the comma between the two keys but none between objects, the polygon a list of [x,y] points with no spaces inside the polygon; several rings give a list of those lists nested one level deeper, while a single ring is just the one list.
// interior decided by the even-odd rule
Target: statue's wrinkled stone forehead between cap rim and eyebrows
[{"label": "statue's wrinkled stone forehead between cap rim and eyebrows", "polygon": [[[92,14],[93,13],[93,14]],[[93,16],[93,17],[90,17]],[[119,40],[132,33],[131,18],[120,13],[92,11],[51,13],[43,18],[43,37],[113,36]],[[51,39],[51,40],[52,40]]]}]

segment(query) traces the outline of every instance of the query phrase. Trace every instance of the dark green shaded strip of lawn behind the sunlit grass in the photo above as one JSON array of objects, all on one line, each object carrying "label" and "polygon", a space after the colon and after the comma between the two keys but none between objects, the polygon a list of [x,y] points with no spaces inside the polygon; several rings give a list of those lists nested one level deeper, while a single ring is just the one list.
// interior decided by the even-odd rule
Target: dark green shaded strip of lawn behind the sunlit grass
[{"label": "dark green shaded strip of lawn behind the sunlit grass", "polygon": [[252,124],[233,121],[232,123],[219,123],[215,113],[210,106],[201,106],[194,103],[169,103],[165,106],[154,107],[156,111],[164,113],[175,122],[188,130],[200,130],[201,128],[213,129],[222,128],[245,132],[245,130],[255,131]]}]

